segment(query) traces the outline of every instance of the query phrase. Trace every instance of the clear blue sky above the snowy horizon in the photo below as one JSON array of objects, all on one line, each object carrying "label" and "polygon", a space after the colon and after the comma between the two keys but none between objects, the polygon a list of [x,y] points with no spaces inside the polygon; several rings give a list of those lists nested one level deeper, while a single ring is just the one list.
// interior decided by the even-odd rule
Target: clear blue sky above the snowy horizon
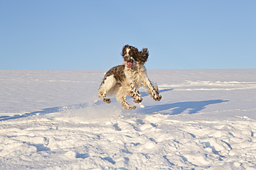
[{"label": "clear blue sky above the snowy horizon", "polygon": [[255,69],[256,1],[0,0],[0,69]]}]

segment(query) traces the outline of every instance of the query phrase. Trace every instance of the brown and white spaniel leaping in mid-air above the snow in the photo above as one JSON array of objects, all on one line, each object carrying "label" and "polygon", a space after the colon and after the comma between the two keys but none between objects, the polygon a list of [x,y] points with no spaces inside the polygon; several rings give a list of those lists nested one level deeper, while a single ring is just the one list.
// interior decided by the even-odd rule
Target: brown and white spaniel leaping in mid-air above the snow
[{"label": "brown and white spaniel leaping in mid-air above the snow", "polygon": [[147,48],[138,51],[136,47],[125,45],[122,47],[122,64],[111,68],[103,78],[103,82],[98,89],[98,97],[107,104],[111,100],[107,96],[116,95],[116,100],[120,101],[125,110],[134,110],[136,106],[127,103],[127,95],[140,104],[142,97],[137,90],[140,87],[147,88],[147,93],[155,100],[160,101],[162,96],[159,94],[157,84],[153,84],[147,77],[145,62],[149,57]]}]

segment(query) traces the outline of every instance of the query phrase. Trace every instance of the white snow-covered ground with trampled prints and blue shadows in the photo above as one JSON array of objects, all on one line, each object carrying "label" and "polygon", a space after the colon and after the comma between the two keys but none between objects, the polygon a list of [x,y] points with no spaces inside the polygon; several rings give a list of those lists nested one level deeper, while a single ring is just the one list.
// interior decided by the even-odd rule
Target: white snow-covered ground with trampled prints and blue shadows
[{"label": "white snow-covered ground with trampled prints and blue shadows", "polygon": [[256,169],[256,69],[149,70],[133,111],[104,72],[0,71],[0,169]]}]

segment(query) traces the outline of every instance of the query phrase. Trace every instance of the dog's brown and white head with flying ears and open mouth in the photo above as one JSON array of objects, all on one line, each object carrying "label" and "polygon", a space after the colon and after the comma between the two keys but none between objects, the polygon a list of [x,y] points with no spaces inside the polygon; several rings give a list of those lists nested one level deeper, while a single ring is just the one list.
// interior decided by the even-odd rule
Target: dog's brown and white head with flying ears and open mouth
[{"label": "dog's brown and white head with flying ears and open mouth", "polygon": [[148,57],[149,52],[147,49],[138,51],[136,47],[131,45],[125,45],[122,47],[122,58],[124,62],[126,62],[128,68],[131,68],[134,64],[143,65],[147,61]]}]

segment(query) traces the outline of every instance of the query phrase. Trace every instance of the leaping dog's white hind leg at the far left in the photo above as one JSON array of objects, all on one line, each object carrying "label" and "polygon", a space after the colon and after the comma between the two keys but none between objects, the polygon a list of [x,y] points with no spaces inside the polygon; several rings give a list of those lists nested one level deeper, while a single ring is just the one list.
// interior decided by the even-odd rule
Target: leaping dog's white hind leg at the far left
[{"label": "leaping dog's white hind leg at the far left", "polygon": [[111,100],[107,98],[107,92],[116,84],[114,75],[110,75],[104,78],[98,89],[98,97],[107,104],[111,103]]}]

